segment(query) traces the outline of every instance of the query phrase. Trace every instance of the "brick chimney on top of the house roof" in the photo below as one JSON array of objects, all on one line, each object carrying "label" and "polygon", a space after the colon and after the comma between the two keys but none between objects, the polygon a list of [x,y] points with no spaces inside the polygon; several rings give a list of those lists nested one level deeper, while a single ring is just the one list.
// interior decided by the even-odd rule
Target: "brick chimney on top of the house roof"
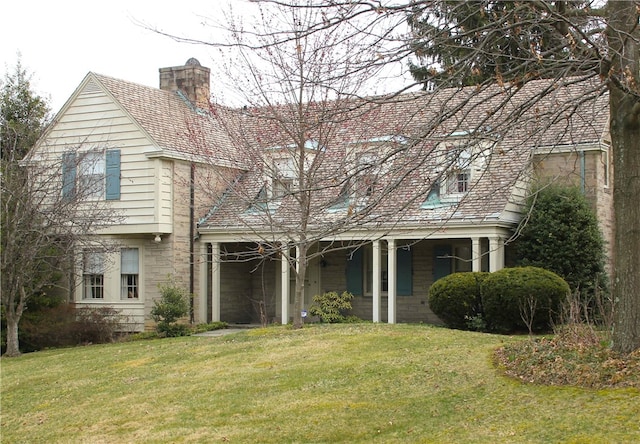
[{"label": "brick chimney on top of the house roof", "polygon": [[160,68],[160,89],[181,91],[193,106],[209,109],[210,77],[211,70],[192,57],[184,66]]}]

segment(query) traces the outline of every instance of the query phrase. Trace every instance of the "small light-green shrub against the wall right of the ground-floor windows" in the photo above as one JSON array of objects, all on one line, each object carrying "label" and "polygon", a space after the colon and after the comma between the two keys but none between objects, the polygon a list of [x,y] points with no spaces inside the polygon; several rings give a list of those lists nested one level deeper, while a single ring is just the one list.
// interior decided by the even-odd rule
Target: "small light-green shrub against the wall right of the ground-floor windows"
[{"label": "small light-green shrub against the wall right of the ground-floor windows", "polygon": [[178,320],[189,313],[187,291],[173,281],[160,285],[160,300],[153,301],[151,317],[156,322],[156,330],[165,336],[185,336],[190,327],[178,324]]}]

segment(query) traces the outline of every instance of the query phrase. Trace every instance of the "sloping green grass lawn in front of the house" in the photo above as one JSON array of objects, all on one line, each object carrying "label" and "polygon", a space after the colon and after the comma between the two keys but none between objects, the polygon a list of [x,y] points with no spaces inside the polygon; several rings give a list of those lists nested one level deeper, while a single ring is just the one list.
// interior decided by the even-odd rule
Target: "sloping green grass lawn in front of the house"
[{"label": "sloping green grass lawn in front of the house", "polygon": [[504,341],[426,325],[270,327],[2,359],[1,442],[640,442],[640,391],[522,384]]}]

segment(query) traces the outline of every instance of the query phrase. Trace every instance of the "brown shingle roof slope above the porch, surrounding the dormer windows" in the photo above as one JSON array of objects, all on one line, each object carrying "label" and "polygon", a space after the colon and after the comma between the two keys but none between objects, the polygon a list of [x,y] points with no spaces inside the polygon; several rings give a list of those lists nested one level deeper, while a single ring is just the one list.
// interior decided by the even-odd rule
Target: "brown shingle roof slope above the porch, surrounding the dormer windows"
[{"label": "brown shingle roof slope above the porch, surrounding the dormer windows", "polygon": [[[311,228],[328,232],[342,226],[424,227],[443,221],[495,221],[508,207],[515,185],[527,173],[533,149],[601,140],[608,121],[608,100],[603,90],[593,81],[566,79],[558,85],[539,80],[522,88],[496,85],[477,91],[467,87],[405,94],[392,100],[348,101],[348,111],[338,102],[309,104],[307,118],[322,113],[332,117],[324,124],[322,118],[316,119],[318,124],[309,125],[305,134],[295,133],[299,122],[276,118],[296,116],[286,106],[238,112],[233,125],[247,142],[245,160],[252,156],[257,159],[251,159],[254,167],[236,178],[200,227],[214,231],[298,229],[301,217],[295,195],[272,200],[268,211],[256,197],[265,187],[264,165],[259,159],[264,148],[286,147],[300,138],[315,139],[323,148],[317,152],[322,156],[321,165],[314,170],[317,179],[310,182],[314,186],[309,206]],[[402,142],[387,144],[398,154],[387,162],[386,172],[376,178],[380,199],[374,192],[355,205],[341,206],[349,151],[391,140],[392,136],[396,140],[402,136]],[[471,190],[458,204],[425,205],[434,184],[446,174],[446,168],[439,165],[442,155],[436,153],[442,146],[439,143],[456,136],[496,143],[485,153],[487,168],[475,172]]]}]

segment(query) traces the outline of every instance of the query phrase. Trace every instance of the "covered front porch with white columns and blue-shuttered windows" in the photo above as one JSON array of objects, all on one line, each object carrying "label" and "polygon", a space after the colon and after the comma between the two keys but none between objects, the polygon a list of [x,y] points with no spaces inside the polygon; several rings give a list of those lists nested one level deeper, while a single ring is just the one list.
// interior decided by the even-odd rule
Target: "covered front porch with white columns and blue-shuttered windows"
[{"label": "covered front porch with white columns and blue-shuttered windows", "polygon": [[[372,237],[323,239],[310,251],[302,309],[316,294],[349,291],[350,314],[373,322],[440,323],[428,307],[429,287],[461,271],[496,271],[505,266],[508,228],[441,229]],[[428,235],[425,235],[428,234]],[[268,255],[246,255],[258,242],[203,236],[201,322],[282,323],[293,317],[298,256],[285,242]],[[283,284],[284,283],[284,284]],[[313,319],[308,319],[313,321]]]}]

